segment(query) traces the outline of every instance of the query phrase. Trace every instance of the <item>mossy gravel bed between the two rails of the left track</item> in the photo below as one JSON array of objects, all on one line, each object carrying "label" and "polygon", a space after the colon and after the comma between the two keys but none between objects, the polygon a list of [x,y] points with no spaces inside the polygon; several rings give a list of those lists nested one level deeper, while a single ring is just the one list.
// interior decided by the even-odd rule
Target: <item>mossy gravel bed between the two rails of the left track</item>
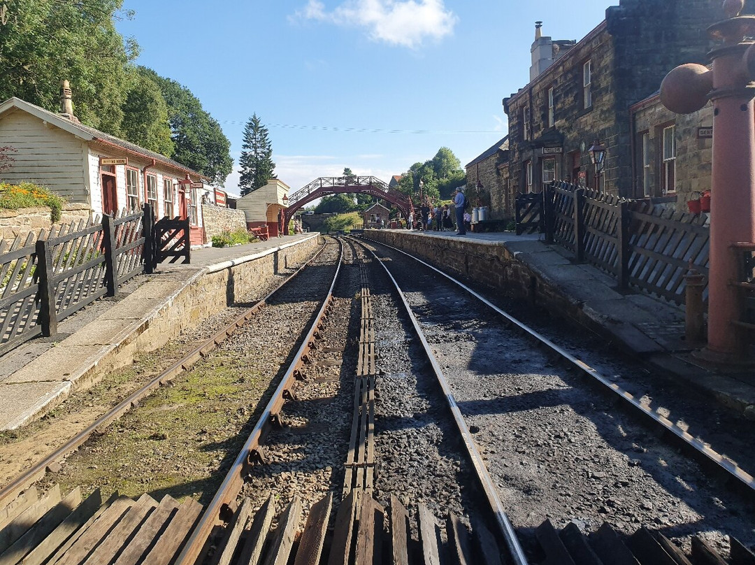
[{"label": "mossy gravel bed between the two rails of the left track", "polygon": [[91,438],[47,480],[63,492],[99,487],[104,496],[146,491],[208,502],[319,307],[334,247],[208,357]]}]

